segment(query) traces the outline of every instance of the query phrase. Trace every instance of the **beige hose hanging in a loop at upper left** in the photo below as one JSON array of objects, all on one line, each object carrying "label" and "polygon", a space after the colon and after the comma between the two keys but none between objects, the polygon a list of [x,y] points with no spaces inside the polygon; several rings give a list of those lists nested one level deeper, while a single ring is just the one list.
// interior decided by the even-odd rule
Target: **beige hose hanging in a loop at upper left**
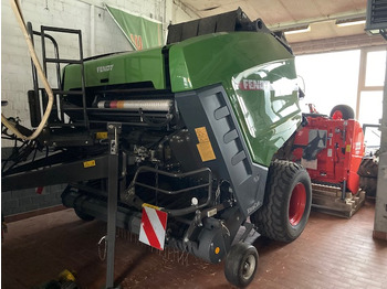
[{"label": "beige hose hanging in a loop at upper left", "polygon": [[49,81],[44,75],[42,66],[39,62],[39,58],[36,56],[35,50],[33,47],[33,43],[32,43],[32,40],[30,38],[30,34],[27,31],[25,22],[24,22],[23,14],[22,14],[20,6],[19,6],[19,1],[18,0],[10,0],[10,2],[11,2],[12,10],[14,12],[14,15],[17,17],[17,20],[19,22],[20,29],[24,34],[27,45],[28,45],[28,49],[30,52],[30,56],[32,58],[33,64],[36,67],[36,71],[38,71],[38,76],[42,81],[45,93],[49,96],[49,101],[48,101],[48,106],[45,108],[45,111],[44,111],[44,115],[43,115],[41,122],[39,124],[36,130],[31,136],[24,136],[23,133],[21,133],[10,121],[8,121],[8,119],[3,116],[3,114],[1,114],[1,122],[9,130],[11,130],[18,138],[21,138],[23,140],[32,140],[32,139],[35,139],[42,132],[42,130],[45,126],[45,122],[49,119],[49,116],[51,114],[52,106],[54,103],[54,95],[53,95],[52,89],[50,87]]}]

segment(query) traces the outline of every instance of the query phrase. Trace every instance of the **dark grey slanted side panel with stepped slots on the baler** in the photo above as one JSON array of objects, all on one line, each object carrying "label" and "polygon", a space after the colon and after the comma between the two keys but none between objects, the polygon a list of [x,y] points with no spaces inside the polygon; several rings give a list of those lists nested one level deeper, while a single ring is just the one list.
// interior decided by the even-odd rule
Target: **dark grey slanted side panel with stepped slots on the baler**
[{"label": "dark grey slanted side panel with stepped slots on the baler", "polygon": [[206,127],[216,159],[202,165],[231,182],[243,215],[251,215],[262,205],[268,168],[252,162],[223,87],[176,94],[176,101],[195,146],[195,129]]}]

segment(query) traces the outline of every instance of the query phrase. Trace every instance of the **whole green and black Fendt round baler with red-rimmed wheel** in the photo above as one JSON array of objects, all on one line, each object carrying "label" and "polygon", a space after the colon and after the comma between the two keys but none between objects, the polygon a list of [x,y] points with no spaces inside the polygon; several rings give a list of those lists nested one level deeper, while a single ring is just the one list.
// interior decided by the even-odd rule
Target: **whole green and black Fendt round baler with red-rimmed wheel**
[{"label": "whole green and black Fendt round baler with red-rimmed wheel", "polygon": [[[261,20],[237,10],[171,25],[167,45],[70,64],[60,86],[36,141],[62,153],[55,164],[60,160],[70,182],[63,204],[80,217],[106,220],[112,175],[101,160],[113,138],[117,225],[149,245],[142,217],[146,210],[163,212],[167,222],[156,247],[210,263],[226,257],[227,279],[243,287],[258,267],[257,249],[244,243],[253,229],[282,242],[304,229],[308,175],[278,160],[302,122],[294,55]],[[36,106],[44,94],[35,89],[29,97]],[[32,122],[41,117],[35,106]],[[112,125],[119,128],[113,137]],[[6,190],[14,174],[6,173]],[[33,186],[63,182],[62,173],[52,175],[24,173]]]}]

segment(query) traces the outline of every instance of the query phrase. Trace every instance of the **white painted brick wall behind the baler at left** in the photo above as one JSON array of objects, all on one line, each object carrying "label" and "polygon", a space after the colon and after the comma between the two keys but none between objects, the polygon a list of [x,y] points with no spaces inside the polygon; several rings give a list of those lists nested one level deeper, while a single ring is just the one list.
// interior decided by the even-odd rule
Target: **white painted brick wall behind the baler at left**
[{"label": "white painted brick wall behind the baler at left", "polygon": [[[160,21],[166,32],[169,23],[190,20],[191,17],[172,0],[105,0],[106,4],[127,12]],[[111,52],[132,51],[122,31],[97,0],[19,0],[25,22],[33,30],[41,25],[82,30],[84,57]],[[51,33],[59,43],[60,56],[79,57],[77,38]],[[34,38],[38,55],[41,55],[39,38]],[[50,53],[50,45],[46,43]],[[53,67],[49,68],[50,84],[55,84]],[[21,125],[30,127],[27,92],[33,88],[31,61],[28,47],[9,0],[1,1],[1,99],[7,117],[19,117]],[[2,157],[7,157],[13,142],[1,140]],[[1,211],[8,215],[60,205],[64,185],[45,188],[41,194],[34,189],[1,194]]]}]

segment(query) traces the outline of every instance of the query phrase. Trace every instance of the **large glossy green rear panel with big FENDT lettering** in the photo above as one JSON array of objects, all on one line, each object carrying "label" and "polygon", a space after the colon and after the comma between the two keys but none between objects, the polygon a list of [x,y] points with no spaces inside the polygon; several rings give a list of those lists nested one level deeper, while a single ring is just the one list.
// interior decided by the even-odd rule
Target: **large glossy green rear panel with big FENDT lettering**
[{"label": "large glossy green rear panel with big FENDT lettering", "polygon": [[198,36],[169,50],[175,93],[222,84],[252,160],[269,167],[301,122],[294,56],[272,34]]}]

